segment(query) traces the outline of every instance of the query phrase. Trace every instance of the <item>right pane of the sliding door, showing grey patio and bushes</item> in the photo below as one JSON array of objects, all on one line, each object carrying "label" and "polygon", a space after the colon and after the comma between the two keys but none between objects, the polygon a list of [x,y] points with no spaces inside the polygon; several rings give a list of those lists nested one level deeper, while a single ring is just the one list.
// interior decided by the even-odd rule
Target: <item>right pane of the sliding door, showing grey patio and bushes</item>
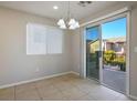
[{"label": "right pane of the sliding door, showing grey patio and bushes", "polygon": [[126,18],[102,24],[103,83],[126,93]]}]

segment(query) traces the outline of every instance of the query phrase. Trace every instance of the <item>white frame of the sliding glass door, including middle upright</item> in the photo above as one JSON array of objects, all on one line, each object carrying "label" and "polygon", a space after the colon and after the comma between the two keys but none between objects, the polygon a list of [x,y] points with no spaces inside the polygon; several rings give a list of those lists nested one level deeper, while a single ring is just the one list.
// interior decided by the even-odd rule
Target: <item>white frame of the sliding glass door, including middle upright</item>
[{"label": "white frame of the sliding glass door, including middle upright", "polygon": [[[129,39],[130,39],[130,12],[127,11],[127,12],[123,12],[120,14],[116,14],[116,16],[113,16],[113,17],[109,17],[109,18],[106,18],[106,19],[102,19],[102,20],[98,20],[96,22],[93,22],[92,24],[87,24],[86,27],[82,28],[82,71],[81,71],[81,75],[83,78],[86,78],[86,28],[92,28],[92,27],[96,27],[98,25],[99,27],[99,38],[101,38],[101,45],[102,45],[102,24],[105,23],[105,22],[109,22],[109,21],[113,21],[113,20],[116,20],[116,19],[119,19],[119,18],[126,18],[127,22],[126,22],[126,43],[127,43],[127,47],[126,47],[126,95],[129,96]],[[102,51],[102,47],[101,47],[101,51]],[[103,55],[103,52],[102,52],[102,55]],[[99,80],[98,82],[103,84],[103,58],[99,56]]]}]

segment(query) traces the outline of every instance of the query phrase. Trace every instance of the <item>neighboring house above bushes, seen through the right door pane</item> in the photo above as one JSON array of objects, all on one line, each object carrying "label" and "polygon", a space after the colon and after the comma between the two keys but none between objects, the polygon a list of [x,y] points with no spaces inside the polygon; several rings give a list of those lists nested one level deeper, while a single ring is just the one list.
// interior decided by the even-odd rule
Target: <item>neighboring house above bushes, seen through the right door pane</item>
[{"label": "neighboring house above bushes, seen through the right door pane", "polygon": [[103,40],[103,51],[114,50],[117,54],[126,53],[126,37]]}]

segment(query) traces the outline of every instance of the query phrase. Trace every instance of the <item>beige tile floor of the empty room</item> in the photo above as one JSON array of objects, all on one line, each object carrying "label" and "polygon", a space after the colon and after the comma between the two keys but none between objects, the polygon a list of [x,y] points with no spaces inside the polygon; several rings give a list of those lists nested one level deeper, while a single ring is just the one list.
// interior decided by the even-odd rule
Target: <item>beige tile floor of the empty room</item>
[{"label": "beige tile floor of the empty room", "polygon": [[94,80],[66,74],[0,90],[1,101],[129,101]]}]

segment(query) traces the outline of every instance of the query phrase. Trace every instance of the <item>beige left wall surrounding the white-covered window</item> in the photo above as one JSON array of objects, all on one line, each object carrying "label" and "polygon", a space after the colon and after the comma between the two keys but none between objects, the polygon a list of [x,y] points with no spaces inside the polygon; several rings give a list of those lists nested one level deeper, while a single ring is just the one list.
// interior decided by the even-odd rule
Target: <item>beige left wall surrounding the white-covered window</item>
[{"label": "beige left wall surrounding the white-covered window", "polygon": [[56,24],[51,19],[0,8],[0,86],[71,71],[67,31],[62,54],[27,55],[28,22]]}]

